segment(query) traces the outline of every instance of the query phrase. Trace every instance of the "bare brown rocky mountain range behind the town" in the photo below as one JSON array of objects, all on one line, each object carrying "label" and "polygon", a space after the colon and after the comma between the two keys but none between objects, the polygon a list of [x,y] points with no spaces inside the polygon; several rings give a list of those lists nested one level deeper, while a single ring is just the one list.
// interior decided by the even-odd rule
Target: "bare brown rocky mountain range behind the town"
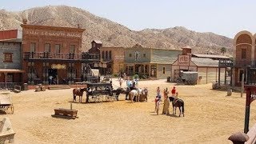
[{"label": "bare brown rocky mountain range behind the town", "polygon": [[232,53],[232,39],[214,33],[198,33],[176,26],[168,29],[130,30],[116,22],[90,14],[86,10],[70,6],[35,7],[19,12],[0,10],[0,30],[22,29],[22,19],[28,23],[45,26],[76,27],[80,24],[86,29],[83,34],[82,49],[90,49],[90,42],[100,40],[103,46],[130,47],[140,44],[143,47],[162,49],[180,49],[190,46],[194,53],[221,53],[221,47],[226,47],[227,53]]}]

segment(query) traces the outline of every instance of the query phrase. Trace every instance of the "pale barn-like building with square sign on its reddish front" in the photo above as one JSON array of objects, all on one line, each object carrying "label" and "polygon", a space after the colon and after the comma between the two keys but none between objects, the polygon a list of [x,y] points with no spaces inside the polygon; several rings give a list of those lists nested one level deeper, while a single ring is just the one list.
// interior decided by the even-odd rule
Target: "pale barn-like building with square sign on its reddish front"
[{"label": "pale barn-like building with square sign on its reddish front", "polygon": [[172,64],[171,78],[175,81],[180,77],[181,70],[197,71],[198,84],[206,84],[209,82],[217,82],[218,78],[225,79],[226,68],[218,67],[221,59],[230,59],[221,55],[210,54],[191,54],[189,46],[182,48],[182,54],[178,55],[178,59]]}]

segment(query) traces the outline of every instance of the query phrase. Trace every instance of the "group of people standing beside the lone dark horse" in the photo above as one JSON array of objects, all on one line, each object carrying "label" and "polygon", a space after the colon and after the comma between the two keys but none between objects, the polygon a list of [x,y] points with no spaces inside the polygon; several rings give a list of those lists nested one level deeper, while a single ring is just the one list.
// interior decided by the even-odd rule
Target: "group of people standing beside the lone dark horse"
[{"label": "group of people standing beside the lone dark horse", "polygon": [[[170,111],[169,111],[170,99],[169,99],[169,91],[168,91],[167,87],[163,90],[163,96],[164,96],[164,103],[163,103],[162,114],[170,114]],[[157,96],[156,96],[156,98],[154,100],[154,102],[155,102],[154,111],[157,114],[159,114],[160,102],[162,101],[161,97],[162,97],[161,90],[160,90],[160,87],[158,86],[158,88],[157,88]],[[171,90],[171,97],[173,97],[175,99],[178,98],[178,92],[177,92],[175,86]]]}]

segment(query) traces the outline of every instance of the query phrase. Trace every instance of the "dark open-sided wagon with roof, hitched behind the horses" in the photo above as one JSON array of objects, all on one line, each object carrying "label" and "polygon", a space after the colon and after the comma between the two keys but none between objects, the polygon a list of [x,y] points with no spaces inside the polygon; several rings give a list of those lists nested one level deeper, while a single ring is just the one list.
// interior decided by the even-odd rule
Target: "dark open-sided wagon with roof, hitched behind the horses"
[{"label": "dark open-sided wagon with roof, hitched behind the horses", "polygon": [[114,101],[116,98],[113,94],[112,83],[88,83],[86,90],[87,102],[103,102],[104,97],[106,101]]}]

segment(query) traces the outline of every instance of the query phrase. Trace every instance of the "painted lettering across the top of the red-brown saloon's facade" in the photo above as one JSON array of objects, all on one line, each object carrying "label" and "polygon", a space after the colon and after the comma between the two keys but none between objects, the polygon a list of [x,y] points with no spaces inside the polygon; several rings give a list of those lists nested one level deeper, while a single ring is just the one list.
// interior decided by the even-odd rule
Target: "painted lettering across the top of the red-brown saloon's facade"
[{"label": "painted lettering across the top of the red-brown saloon's facade", "polygon": [[56,36],[56,37],[71,37],[71,38],[81,38],[82,35],[74,32],[65,31],[49,31],[49,30],[25,30],[25,34],[28,35],[41,35],[41,36]]}]

